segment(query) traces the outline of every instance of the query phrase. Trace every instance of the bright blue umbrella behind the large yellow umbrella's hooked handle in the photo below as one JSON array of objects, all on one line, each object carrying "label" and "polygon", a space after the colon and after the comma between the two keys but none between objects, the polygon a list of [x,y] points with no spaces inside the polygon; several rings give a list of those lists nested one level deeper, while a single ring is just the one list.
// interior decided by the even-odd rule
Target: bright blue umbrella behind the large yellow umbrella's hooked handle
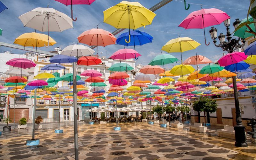
[{"label": "bright blue umbrella behind the large yellow umbrella's hooked handle", "polygon": [[146,32],[141,32],[139,30],[130,31],[131,41],[126,43],[125,39],[129,39],[129,32],[122,33],[116,39],[116,44],[132,46],[132,45],[143,45],[147,43],[152,43],[153,37]]}]

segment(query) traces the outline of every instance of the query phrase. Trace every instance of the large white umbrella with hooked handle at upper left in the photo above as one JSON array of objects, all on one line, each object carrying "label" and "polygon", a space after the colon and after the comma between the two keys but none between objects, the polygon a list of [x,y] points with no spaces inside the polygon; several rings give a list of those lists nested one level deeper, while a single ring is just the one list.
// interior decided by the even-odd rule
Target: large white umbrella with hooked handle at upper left
[{"label": "large white umbrella with hooked handle at upper left", "polygon": [[38,7],[22,14],[18,18],[21,20],[24,27],[30,27],[41,32],[48,32],[48,46],[49,32],[62,32],[63,30],[73,28],[73,20],[68,17],[68,15],[53,8]]}]

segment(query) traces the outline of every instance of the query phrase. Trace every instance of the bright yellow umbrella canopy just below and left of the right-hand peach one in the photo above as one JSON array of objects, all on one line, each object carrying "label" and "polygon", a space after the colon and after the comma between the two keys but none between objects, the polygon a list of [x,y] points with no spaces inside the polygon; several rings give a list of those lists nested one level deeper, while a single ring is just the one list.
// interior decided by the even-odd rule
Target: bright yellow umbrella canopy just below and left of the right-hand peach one
[{"label": "bright yellow umbrella canopy just below and left of the right-hand peach one", "polygon": [[180,65],[174,66],[171,69],[170,73],[173,75],[177,75],[177,76],[184,76],[184,75],[192,73],[194,70],[195,70],[195,68],[193,68],[190,65],[180,64]]}]

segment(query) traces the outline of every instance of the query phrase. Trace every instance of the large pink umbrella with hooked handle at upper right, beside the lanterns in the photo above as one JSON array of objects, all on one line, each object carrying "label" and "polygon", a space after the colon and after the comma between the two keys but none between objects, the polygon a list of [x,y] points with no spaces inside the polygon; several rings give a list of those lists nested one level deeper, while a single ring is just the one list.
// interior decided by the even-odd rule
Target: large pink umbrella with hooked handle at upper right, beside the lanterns
[{"label": "large pink umbrella with hooked handle at upper right, beside the lanterns", "polygon": [[[202,7],[201,7],[202,8]],[[192,28],[200,28],[203,29],[205,27],[218,25],[222,23],[224,20],[229,19],[227,13],[216,9],[201,9],[198,11],[191,12],[188,17],[186,17],[179,25],[179,27],[183,27],[185,29],[192,29]],[[206,44],[205,38],[205,30],[204,30],[204,41]],[[209,45],[210,43],[206,44]]]}]

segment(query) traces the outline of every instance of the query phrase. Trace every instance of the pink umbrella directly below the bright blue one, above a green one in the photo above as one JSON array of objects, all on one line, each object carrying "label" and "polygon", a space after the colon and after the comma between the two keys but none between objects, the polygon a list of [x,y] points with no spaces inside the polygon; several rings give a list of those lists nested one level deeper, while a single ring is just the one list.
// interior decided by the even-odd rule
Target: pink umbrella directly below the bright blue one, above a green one
[{"label": "pink umbrella directly below the bright blue one, above a green one", "polygon": [[113,60],[127,60],[127,59],[132,59],[132,58],[137,58],[141,56],[140,53],[136,52],[133,49],[125,48],[125,49],[120,49],[113,53],[109,58]]}]

